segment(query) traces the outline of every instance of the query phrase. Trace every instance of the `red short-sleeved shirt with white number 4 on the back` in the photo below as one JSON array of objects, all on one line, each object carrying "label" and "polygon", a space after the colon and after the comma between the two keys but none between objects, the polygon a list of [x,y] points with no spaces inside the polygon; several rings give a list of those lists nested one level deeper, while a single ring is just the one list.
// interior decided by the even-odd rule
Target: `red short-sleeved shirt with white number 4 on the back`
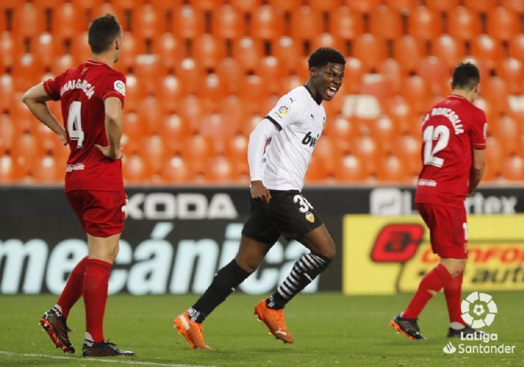
[{"label": "red short-sleeved shirt with white number 4 on the back", "polygon": [[117,97],[124,106],[126,78],[102,62],[88,60],[43,83],[60,100],[71,153],[65,191],[124,189],[122,161],[105,157],[94,144],[107,145],[104,101]]}]

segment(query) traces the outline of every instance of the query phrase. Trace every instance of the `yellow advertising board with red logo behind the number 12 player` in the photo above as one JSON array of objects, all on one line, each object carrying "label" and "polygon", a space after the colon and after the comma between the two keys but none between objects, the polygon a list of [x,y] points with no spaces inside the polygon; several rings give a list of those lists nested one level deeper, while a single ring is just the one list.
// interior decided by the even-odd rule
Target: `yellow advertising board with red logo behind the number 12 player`
[{"label": "yellow advertising board with red logo behind the number 12 player", "polygon": [[[439,262],[420,216],[345,215],[345,294],[416,291]],[[524,214],[468,216],[463,290],[524,290]]]}]

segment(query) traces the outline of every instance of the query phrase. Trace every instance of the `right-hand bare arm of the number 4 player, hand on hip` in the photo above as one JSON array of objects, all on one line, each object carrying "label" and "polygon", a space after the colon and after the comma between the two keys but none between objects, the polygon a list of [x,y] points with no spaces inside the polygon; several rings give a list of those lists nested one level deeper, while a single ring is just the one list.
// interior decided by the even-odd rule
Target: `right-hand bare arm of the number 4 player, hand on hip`
[{"label": "right-hand bare arm of the number 4 player, hand on hip", "polygon": [[107,146],[95,144],[103,155],[112,159],[122,158],[122,129],[124,126],[124,113],[122,101],[116,97],[109,97],[104,102],[105,130],[107,132]]}]

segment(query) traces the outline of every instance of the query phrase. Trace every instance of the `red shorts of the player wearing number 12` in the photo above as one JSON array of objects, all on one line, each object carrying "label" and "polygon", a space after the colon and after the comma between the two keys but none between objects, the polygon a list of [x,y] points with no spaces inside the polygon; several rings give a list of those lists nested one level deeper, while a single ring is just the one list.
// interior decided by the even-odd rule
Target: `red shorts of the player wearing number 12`
[{"label": "red shorts of the player wearing number 12", "polygon": [[467,258],[466,209],[429,203],[415,205],[429,228],[433,253],[444,258]]}]

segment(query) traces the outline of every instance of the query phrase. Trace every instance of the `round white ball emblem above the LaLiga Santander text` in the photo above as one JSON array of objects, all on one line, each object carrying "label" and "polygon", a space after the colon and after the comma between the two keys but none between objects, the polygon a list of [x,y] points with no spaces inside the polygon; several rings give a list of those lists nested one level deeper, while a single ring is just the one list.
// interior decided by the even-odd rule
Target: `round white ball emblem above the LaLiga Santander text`
[{"label": "round white ball emblem above the LaLiga Santander text", "polygon": [[461,311],[464,322],[475,329],[491,325],[498,309],[492,296],[473,292],[462,300]]}]

